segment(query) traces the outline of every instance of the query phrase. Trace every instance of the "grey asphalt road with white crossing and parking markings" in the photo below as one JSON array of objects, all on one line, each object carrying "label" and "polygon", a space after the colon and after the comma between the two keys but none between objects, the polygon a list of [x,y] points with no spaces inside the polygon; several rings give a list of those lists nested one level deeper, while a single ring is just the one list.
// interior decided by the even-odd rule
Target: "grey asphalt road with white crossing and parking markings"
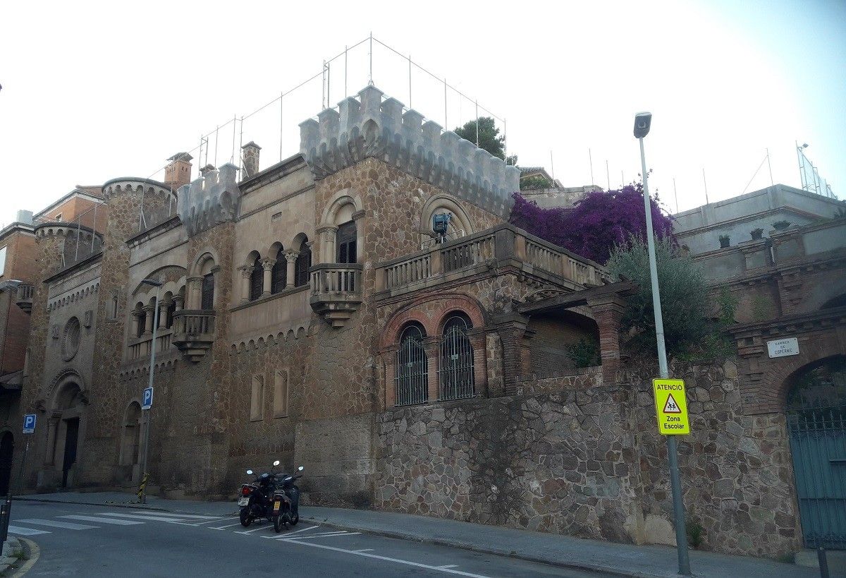
[{"label": "grey asphalt road with white crossing and parking markings", "polygon": [[305,521],[276,534],[237,517],[77,504],[15,502],[9,533],[40,547],[27,576],[599,576]]}]

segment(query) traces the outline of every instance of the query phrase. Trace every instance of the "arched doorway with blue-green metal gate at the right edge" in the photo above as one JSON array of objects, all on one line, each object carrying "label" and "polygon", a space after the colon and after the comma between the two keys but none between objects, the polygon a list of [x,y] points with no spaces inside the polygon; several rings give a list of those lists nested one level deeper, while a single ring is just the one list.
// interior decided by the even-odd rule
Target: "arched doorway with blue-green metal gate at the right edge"
[{"label": "arched doorway with blue-green metal gate at the right edge", "polygon": [[794,375],[787,418],[805,546],[846,548],[846,357]]}]

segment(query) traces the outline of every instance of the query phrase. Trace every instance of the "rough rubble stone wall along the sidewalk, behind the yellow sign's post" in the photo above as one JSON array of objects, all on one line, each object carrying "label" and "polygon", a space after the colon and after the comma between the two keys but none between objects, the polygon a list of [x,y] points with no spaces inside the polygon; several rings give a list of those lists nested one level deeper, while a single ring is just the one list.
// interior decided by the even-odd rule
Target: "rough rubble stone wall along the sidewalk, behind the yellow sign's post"
[{"label": "rough rubble stone wall along the sidewalk, behind the yellow sign's post", "polygon": [[[621,372],[602,386],[595,374],[523,382],[517,391],[530,394],[377,414],[376,507],[674,543],[650,378]],[[673,375],[689,384],[693,433],[679,440],[679,465],[689,523],[705,531],[701,547],[770,557],[799,549],[783,415],[742,414],[732,361]]]}]

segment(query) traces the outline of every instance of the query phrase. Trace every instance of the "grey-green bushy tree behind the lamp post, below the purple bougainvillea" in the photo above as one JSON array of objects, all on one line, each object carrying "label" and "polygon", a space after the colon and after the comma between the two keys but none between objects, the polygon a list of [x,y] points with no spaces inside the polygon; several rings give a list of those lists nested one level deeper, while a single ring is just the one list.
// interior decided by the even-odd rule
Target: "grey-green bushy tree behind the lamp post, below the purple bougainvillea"
[{"label": "grey-green bushy tree behind the lamp post, below the purple bougainvillea", "polygon": [[[703,344],[712,343],[713,331],[706,319],[705,276],[693,259],[682,255],[671,240],[659,239],[655,248],[667,353],[689,356]],[[655,352],[655,315],[645,242],[633,237],[625,246],[615,247],[607,268],[613,278],[623,275],[639,287],[638,292],[628,297],[622,321],[623,334],[630,336],[629,347],[638,353]]]}]

